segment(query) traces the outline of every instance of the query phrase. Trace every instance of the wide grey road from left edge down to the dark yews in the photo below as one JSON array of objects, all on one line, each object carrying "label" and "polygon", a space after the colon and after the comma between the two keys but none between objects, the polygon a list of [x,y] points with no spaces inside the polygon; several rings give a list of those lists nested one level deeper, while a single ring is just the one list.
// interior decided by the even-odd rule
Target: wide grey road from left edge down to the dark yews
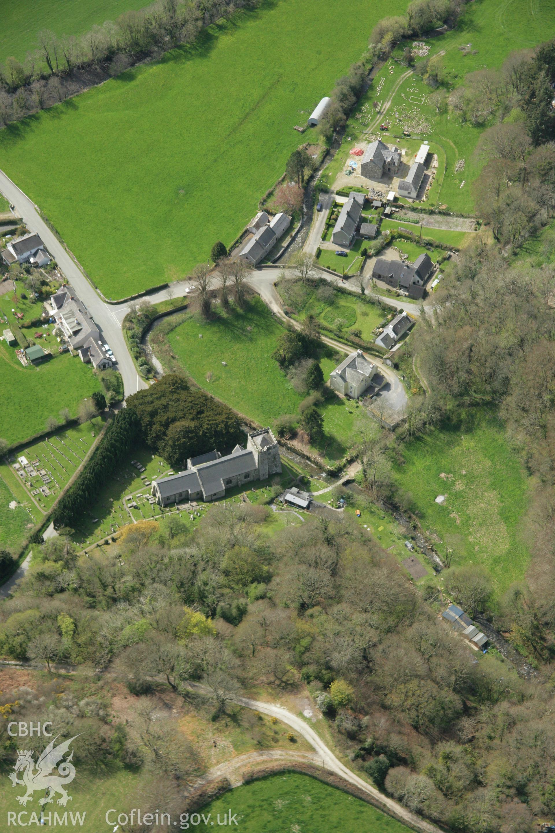
[{"label": "wide grey road from left edge down to the dark yews", "polygon": [[127,345],[121,332],[121,319],[117,317],[116,310],[112,309],[111,305],[104,302],[98,295],[98,292],[92,287],[92,284],[77,266],[77,263],[68,254],[56,235],[51,232],[46,222],[44,222],[34,202],[2,171],[0,171],[0,192],[16,208],[17,214],[22,217],[29,230],[38,232],[48,252],[51,253],[52,257],[54,257],[62,269],[62,272],[67,278],[67,282],[75,289],[77,296],[84,303],[85,307],[87,307],[88,312],[97,323],[97,327],[102,332],[105,342],[110,345],[116,358],[117,370],[119,370],[123,378],[126,397],[131,393],[136,393],[142,387],[147,387],[146,382],[136,372],[131,354],[127,350]]}]

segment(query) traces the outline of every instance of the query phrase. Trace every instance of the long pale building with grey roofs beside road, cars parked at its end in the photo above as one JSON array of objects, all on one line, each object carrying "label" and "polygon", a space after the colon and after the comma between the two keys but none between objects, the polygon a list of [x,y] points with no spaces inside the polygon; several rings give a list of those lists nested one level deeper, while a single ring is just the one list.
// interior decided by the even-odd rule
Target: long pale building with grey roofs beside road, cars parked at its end
[{"label": "long pale building with grey roofs beside road, cars parked at its end", "polygon": [[100,370],[112,367],[113,357],[108,355],[97,325],[82,302],[73,295],[72,287],[66,285],[58,289],[44,306],[82,362],[91,362]]}]

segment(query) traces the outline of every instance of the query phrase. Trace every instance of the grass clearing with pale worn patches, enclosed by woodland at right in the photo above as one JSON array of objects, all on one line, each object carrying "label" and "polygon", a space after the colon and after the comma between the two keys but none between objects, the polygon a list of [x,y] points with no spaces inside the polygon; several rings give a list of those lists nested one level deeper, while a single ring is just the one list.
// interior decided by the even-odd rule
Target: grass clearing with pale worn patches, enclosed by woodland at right
[{"label": "grass clearing with pale worn patches, enclosed by woodland at right", "polygon": [[[492,412],[471,412],[460,424],[434,430],[404,446],[394,466],[400,489],[424,530],[439,536],[439,555],[453,548],[453,566],[483,565],[498,593],[523,579],[529,552],[520,521],[528,478]],[[443,506],[435,502],[446,496]]]}]

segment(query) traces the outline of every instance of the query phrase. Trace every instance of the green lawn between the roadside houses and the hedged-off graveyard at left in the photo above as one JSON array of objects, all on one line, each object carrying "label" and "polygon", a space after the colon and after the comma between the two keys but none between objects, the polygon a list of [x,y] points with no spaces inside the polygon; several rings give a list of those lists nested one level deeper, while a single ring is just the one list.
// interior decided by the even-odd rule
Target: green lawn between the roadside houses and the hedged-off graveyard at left
[{"label": "green lawn between the roadside houses and the hedged-off graveyard at left", "polygon": [[76,416],[79,402],[102,387],[77,356],[62,353],[39,367],[23,367],[15,347],[5,342],[0,342],[0,380],[0,437],[9,443],[45,431],[47,417],[57,417],[62,408]]}]

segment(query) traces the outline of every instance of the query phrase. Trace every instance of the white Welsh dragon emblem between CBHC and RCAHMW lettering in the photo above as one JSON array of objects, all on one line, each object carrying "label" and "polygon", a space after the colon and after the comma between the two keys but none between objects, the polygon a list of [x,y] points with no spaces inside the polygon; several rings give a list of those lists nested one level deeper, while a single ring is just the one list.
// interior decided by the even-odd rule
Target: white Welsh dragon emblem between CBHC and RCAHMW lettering
[{"label": "white Welsh dragon emblem between CBHC and RCAHMW lettering", "polygon": [[[32,760],[34,754],[32,751],[27,749],[17,750],[17,761],[13,766],[15,773],[10,773],[10,780],[12,786],[21,784],[27,787],[24,796],[17,796],[17,801],[20,804],[25,806],[27,801],[32,801],[32,794],[35,790],[47,790],[47,795],[38,802],[41,805],[54,801],[56,793],[61,796],[57,803],[61,804],[62,807],[65,807],[68,801],[72,801],[72,796],[67,795],[64,786],[71,784],[75,778],[75,766],[72,764],[73,750],[65,761],[63,756],[69,751],[72,741],[75,741],[76,737],[78,735],[71,737],[69,741],[64,741],[59,746],[54,746],[57,741],[57,738],[54,738],[42,752],[36,765]],[[57,769],[58,774],[52,773],[52,770],[55,769]],[[17,778],[17,772],[23,773],[22,781]]]}]

